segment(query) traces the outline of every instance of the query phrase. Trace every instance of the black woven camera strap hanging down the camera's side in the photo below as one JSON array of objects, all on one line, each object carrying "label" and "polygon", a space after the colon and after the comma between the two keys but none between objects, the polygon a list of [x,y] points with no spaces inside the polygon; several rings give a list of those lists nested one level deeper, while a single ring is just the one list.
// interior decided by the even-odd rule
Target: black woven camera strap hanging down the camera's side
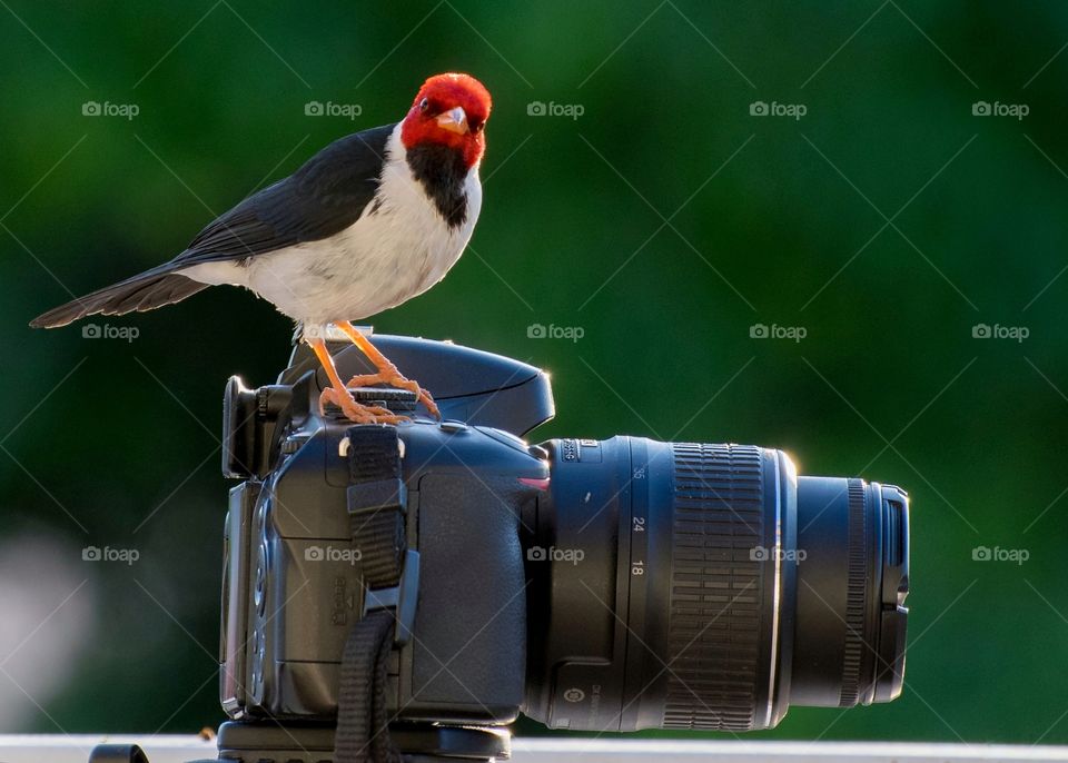
[{"label": "black woven camera strap hanging down the camera's side", "polygon": [[[347,434],[348,515],[366,597],[373,600],[376,589],[400,586],[404,572],[403,446],[393,426],[354,426]],[[396,608],[376,608],[348,634],[338,686],[335,763],[400,761],[389,735],[386,696],[396,621]]]}]

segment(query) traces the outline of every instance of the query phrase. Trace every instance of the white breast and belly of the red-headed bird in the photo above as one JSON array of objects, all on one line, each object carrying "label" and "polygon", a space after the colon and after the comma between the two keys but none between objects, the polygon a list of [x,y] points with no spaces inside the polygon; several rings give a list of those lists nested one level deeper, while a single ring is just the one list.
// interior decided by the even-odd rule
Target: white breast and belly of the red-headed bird
[{"label": "white breast and belly of the red-headed bird", "polygon": [[244,267],[212,262],[186,275],[247,286],[309,325],[359,320],[426,291],[459,259],[474,230],[482,208],[478,168],[464,181],[467,218],[449,227],[412,174],[399,125],[386,143],[385,159],[375,201],[348,228],[257,255]]}]

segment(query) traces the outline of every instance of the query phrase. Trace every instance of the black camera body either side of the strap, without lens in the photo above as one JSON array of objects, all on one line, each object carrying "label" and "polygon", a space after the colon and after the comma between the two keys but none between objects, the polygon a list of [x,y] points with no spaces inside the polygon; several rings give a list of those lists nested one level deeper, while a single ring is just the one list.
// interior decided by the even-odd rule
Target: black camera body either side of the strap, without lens
[{"label": "black camera body either side of the strap, without lens", "polygon": [[[350,534],[349,428],[297,429],[266,482],[230,494],[222,701],[231,717],[337,711],[348,631],[375,603],[360,574],[366,552]],[[547,467],[490,427],[416,422],[398,435],[409,553],[397,600],[416,595],[418,607],[395,654],[389,705],[404,708],[403,721],[510,723],[526,676],[521,517],[533,516],[538,492],[524,480],[546,480]]]}]

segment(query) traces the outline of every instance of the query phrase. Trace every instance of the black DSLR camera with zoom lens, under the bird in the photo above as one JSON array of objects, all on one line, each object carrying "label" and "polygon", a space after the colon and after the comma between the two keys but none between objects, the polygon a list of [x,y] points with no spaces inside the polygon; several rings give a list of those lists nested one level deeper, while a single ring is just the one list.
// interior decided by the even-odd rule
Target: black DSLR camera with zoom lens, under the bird
[{"label": "black DSLR camera with zoom lens, under the bird", "polygon": [[[220,759],[492,760],[550,729],[741,732],[897,697],[909,499],[754,445],[524,437],[548,377],[396,336],[412,417],[320,414],[298,347],[226,393]],[[343,378],[373,370],[357,348]],[[344,747],[344,751],[343,751]],[[336,751],[336,757],[335,755]],[[404,757],[402,757],[404,755]]]}]

